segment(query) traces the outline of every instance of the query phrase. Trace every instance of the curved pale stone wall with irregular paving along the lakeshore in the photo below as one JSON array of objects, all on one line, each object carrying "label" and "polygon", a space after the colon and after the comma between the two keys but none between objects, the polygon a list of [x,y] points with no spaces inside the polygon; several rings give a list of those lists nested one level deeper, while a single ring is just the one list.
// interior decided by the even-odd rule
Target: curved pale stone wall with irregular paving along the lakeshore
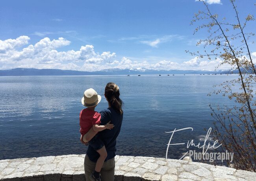
[{"label": "curved pale stone wall with irregular paving along the lakeshore", "polygon": [[[0,160],[1,181],[84,181],[85,155]],[[116,181],[256,180],[255,172],[154,157],[115,157]]]}]

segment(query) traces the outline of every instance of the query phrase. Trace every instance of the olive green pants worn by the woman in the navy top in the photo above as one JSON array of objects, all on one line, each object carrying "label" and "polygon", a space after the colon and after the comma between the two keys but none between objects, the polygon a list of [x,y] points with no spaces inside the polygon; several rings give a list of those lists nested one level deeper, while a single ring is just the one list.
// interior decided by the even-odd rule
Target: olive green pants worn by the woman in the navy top
[{"label": "olive green pants worn by the woman in the navy top", "polygon": [[[91,161],[87,155],[84,158],[84,172],[85,180],[91,181],[90,175],[95,169],[96,163]],[[115,180],[115,157],[105,161],[100,171],[102,181],[114,181]]]}]

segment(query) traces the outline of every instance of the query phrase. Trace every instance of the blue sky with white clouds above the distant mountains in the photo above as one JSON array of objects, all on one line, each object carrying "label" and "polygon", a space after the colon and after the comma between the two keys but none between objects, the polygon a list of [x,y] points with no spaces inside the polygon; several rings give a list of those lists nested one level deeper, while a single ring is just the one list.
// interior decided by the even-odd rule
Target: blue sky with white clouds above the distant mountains
[{"label": "blue sky with white clouds above the distant mountains", "polygon": [[[229,0],[207,2],[220,17],[234,17]],[[249,0],[236,4],[242,20],[256,10]],[[196,43],[207,32],[193,35],[196,26],[190,25],[194,13],[203,9],[195,0],[2,1],[0,69],[214,70],[221,59],[213,62],[185,52],[204,51]],[[255,29],[255,22],[247,25],[247,30]],[[255,44],[250,47],[256,52]]]}]

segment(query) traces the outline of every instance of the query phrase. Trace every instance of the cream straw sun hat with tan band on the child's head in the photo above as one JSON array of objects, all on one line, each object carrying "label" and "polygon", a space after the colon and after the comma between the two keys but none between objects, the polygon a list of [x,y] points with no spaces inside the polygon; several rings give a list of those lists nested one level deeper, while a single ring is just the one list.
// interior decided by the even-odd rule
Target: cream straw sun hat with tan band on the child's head
[{"label": "cream straw sun hat with tan band on the child's head", "polygon": [[101,100],[101,96],[97,94],[94,89],[87,89],[83,93],[83,98],[81,100],[85,107],[94,107]]}]

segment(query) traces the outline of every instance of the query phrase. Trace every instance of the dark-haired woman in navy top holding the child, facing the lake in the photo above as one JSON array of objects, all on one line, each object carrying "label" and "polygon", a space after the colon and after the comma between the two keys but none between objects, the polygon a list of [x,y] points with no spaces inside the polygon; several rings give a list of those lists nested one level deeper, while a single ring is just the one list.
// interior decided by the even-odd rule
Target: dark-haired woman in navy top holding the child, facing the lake
[{"label": "dark-haired woman in navy top holding the child, facing the lake", "polygon": [[[98,136],[104,142],[108,153],[108,156],[100,171],[100,175],[102,181],[114,181],[115,151],[117,150],[115,145],[117,136],[119,135],[121,129],[123,118],[122,100],[119,98],[119,87],[113,82],[107,83],[104,96],[108,101],[108,109],[100,111],[101,125],[107,124],[109,121],[111,121],[111,124],[114,124],[114,127],[113,129],[105,129],[104,131],[98,132]],[[95,151],[91,146],[88,146],[84,159],[84,171],[87,181],[91,180],[90,175],[95,169],[98,157],[99,154],[97,151]]]}]

